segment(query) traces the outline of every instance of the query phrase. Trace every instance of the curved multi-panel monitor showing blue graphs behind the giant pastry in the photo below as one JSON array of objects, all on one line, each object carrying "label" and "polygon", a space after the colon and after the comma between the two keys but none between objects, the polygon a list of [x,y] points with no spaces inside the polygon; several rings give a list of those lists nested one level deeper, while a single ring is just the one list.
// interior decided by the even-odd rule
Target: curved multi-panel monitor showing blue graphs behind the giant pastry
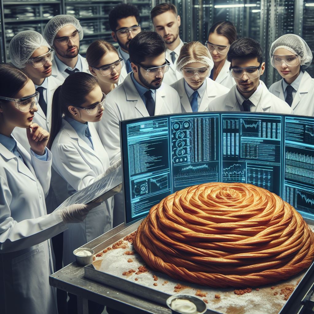
[{"label": "curved multi-panel monitor showing blue graphs behind the giant pastry", "polygon": [[120,127],[127,223],[171,193],[207,182],[265,188],[314,219],[314,118],[201,112]]}]

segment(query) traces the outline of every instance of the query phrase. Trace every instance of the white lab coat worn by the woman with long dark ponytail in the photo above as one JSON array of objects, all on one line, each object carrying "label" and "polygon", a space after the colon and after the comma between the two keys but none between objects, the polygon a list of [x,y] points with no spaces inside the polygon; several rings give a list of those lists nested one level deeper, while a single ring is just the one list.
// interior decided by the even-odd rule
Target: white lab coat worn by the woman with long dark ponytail
[{"label": "white lab coat worn by the woman with long dark ponytail", "polygon": [[[79,191],[89,186],[109,168],[108,154],[93,123],[89,123],[89,131],[94,149],[62,119],[61,130],[52,143],[52,166],[68,183],[69,190],[73,188]],[[64,265],[75,260],[74,249],[112,229],[112,216],[113,198],[109,198],[92,209],[83,222],[69,225],[68,230],[63,233]]]}]

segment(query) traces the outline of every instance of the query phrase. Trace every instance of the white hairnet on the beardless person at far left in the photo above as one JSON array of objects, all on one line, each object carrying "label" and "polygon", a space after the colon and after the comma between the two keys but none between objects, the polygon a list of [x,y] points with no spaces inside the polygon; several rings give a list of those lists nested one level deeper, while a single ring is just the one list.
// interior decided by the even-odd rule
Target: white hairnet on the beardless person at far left
[{"label": "white hairnet on the beardless person at far left", "polygon": [[44,37],[34,30],[24,30],[16,34],[9,44],[11,62],[17,68],[25,68],[25,63],[37,48],[50,48]]}]

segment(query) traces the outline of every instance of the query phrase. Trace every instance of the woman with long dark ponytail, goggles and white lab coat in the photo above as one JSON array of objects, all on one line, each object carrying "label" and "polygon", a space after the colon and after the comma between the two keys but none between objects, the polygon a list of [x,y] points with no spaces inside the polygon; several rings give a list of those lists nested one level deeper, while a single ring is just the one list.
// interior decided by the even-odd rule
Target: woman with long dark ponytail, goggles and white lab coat
[{"label": "woman with long dark ponytail, goggles and white lab coat", "polygon": [[[95,77],[82,72],[68,76],[53,95],[49,142],[52,166],[68,183],[69,195],[99,180],[119,164],[110,167],[108,154],[92,123],[102,119],[105,98]],[[64,265],[75,260],[74,249],[111,230],[112,212],[111,197],[90,211],[83,223],[64,231]],[[74,313],[76,308],[76,298],[72,296],[68,313]],[[101,308],[97,305],[91,313],[101,313]]]}]

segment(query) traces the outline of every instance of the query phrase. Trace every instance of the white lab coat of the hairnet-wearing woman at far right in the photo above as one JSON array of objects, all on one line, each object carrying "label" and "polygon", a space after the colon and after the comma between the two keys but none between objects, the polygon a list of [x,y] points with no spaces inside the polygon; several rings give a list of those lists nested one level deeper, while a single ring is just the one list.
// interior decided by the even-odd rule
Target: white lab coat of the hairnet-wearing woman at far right
[{"label": "white lab coat of the hairnet-wearing woman at far right", "polygon": [[[269,87],[269,91],[281,100],[284,100],[282,79],[273,83]],[[301,78],[300,86],[296,91],[291,108],[296,115],[314,116],[314,78],[311,78],[306,71],[304,71]]]}]

